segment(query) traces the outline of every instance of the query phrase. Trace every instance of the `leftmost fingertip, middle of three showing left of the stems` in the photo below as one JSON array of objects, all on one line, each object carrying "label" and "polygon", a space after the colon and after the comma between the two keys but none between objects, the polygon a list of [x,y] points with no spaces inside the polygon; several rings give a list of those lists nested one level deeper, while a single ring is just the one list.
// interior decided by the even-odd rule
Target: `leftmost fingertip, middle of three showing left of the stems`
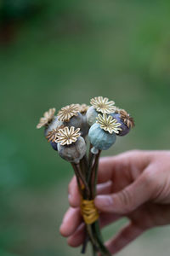
[{"label": "leftmost fingertip, middle of three showing left of the stems", "polygon": [[63,222],[60,225],[59,231],[62,236],[71,236],[77,227],[82,223],[82,216],[79,208],[70,207],[65,213]]}]

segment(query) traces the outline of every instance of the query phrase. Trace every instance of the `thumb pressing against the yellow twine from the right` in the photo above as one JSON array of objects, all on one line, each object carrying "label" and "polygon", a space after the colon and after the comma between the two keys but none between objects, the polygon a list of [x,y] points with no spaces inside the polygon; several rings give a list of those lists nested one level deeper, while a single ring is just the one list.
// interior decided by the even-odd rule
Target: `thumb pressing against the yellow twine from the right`
[{"label": "thumb pressing against the yellow twine from the right", "polygon": [[96,196],[94,204],[101,212],[124,214],[149,201],[152,190],[152,186],[143,175],[117,193]]}]

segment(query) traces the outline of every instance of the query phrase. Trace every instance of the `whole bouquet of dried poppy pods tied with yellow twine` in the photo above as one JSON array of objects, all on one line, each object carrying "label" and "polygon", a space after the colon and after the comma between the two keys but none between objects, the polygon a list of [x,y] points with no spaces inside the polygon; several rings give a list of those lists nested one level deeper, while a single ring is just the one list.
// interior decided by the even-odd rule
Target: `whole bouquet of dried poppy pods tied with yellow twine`
[{"label": "whole bouquet of dried poppy pods tied with yellow twine", "polygon": [[86,104],[71,104],[43,114],[37,128],[45,127],[45,137],[59,156],[71,163],[81,195],[81,213],[86,224],[82,253],[91,242],[93,255],[109,256],[99,229],[99,212],[94,206],[99,155],[116,143],[116,136],[125,136],[134,126],[133,118],[115,102],[98,96]]}]

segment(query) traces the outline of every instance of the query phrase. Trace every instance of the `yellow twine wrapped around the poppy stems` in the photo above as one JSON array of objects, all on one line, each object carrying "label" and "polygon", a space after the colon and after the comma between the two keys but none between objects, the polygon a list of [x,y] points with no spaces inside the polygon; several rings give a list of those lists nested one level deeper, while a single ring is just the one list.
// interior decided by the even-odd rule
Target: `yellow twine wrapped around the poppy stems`
[{"label": "yellow twine wrapped around the poppy stems", "polygon": [[83,200],[81,202],[82,218],[86,224],[93,224],[99,218],[99,212],[94,206],[94,200]]}]

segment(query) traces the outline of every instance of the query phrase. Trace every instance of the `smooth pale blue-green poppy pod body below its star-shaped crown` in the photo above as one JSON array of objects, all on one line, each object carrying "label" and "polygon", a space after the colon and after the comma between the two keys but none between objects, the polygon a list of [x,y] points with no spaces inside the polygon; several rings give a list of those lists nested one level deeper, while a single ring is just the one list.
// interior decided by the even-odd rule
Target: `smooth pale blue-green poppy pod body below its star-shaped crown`
[{"label": "smooth pale blue-green poppy pod body below its star-shaped crown", "polygon": [[111,146],[116,142],[115,132],[109,133],[104,131],[97,123],[90,127],[88,137],[94,148],[98,148],[100,150],[111,148]]}]

